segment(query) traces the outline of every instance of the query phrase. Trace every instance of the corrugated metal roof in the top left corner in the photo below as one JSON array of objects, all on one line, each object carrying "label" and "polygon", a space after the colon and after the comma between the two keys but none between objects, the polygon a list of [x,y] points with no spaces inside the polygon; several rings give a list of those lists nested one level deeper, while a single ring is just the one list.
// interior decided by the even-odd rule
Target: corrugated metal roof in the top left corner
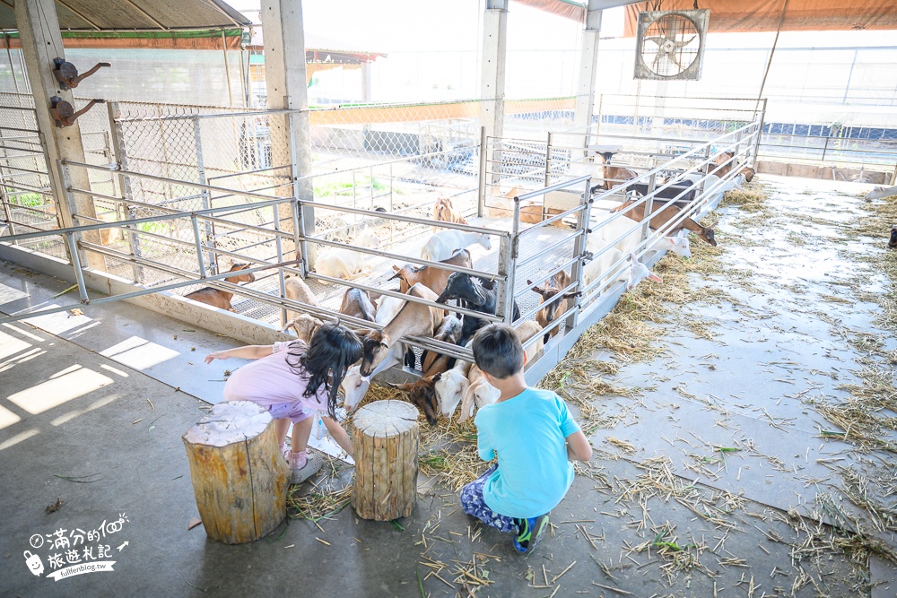
[{"label": "corrugated metal roof in the top left corner", "polygon": [[[15,0],[0,3],[0,29],[17,29],[14,5]],[[62,30],[189,30],[250,24],[220,0],[56,0],[56,6]]]}]

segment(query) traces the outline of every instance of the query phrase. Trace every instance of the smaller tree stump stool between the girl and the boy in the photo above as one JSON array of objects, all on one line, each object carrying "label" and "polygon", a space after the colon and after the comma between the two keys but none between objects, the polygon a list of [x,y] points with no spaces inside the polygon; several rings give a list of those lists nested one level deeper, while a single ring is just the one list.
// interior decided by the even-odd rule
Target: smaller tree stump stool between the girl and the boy
[{"label": "smaller tree stump stool between the girl and the boy", "polygon": [[407,517],[417,501],[417,408],[405,401],[378,401],[355,413],[352,505],[375,521]]}]

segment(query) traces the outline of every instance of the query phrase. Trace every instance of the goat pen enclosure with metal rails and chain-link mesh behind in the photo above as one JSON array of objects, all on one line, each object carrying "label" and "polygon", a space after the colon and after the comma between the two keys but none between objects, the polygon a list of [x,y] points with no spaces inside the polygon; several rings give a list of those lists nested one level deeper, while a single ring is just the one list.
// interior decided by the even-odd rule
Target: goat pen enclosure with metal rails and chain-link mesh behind
[{"label": "goat pen enclosure with metal rails and chain-link mesh behind", "polygon": [[[92,255],[101,256],[109,274],[134,285],[125,295],[92,303],[161,291],[186,294],[211,285],[236,293],[236,310],[265,325],[281,325],[292,309],[371,327],[338,314],[347,287],[435,305],[398,293],[389,281],[392,266],[433,265],[419,254],[434,226],[484,232],[492,248],[472,247],[473,268],[440,267],[497,283],[496,315],[477,312],[485,320],[511,322],[515,301],[522,314],[515,324],[532,319],[541,307],[534,287],[556,273],[571,274],[564,292],[576,292],[576,299],[548,326],[546,332],[557,328],[562,334],[531,362],[527,377],[534,380],[553,368],[623,292],[627,256],[609,259],[612,247],[636,234],[634,252],[653,259],[659,239],[690,216],[709,212],[727,179],[736,175],[736,169],[721,179],[702,171],[725,152],[733,152],[739,165],[753,163],[762,127],[762,110],[753,100],[725,106],[717,101],[716,108],[703,112],[693,105],[669,107],[664,117],[623,121],[598,115],[588,132],[571,131],[569,99],[519,100],[508,102],[504,134],[497,137],[481,133],[479,102],[311,111],[315,167],[296,176],[295,156],[272,152],[271,138],[299,112],[112,103],[107,113],[94,110],[82,122],[86,162],[60,165],[64,171],[88,172],[90,189],[67,191],[92,197],[96,214],[76,214],[78,228],[60,234],[50,231],[57,227],[56,211],[47,199],[46,164],[29,98],[0,97],[4,136],[17,135],[4,138],[0,167],[7,183],[4,240],[74,257],[82,299],[88,293],[80,265]],[[604,177],[596,147],[613,147],[614,164],[625,164],[638,176],[599,189]],[[670,177],[664,184],[661,174]],[[646,219],[609,212],[638,196],[628,210],[656,213],[673,204],[675,194],[680,201],[687,195],[686,209],[658,230],[649,230]],[[440,196],[451,198],[468,224],[433,221],[431,208]],[[521,208],[530,214],[536,209],[537,221],[532,215],[521,220]],[[623,233],[597,252],[588,251],[589,232],[614,225],[619,230],[623,221],[628,225]],[[312,256],[351,246],[362,230],[374,231],[381,242],[353,247],[365,256],[370,275],[343,281],[315,271]],[[585,284],[583,269],[596,260],[603,264],[601,275]],[[237,286],[222,280],[231,262],[249,264],[246,272],[255,274],[255,282]],[[288,275],[309,282],[319,305],[285,299]],[[538,338],[541,334],[528,343]],[[469,357],[469,350],[431,338],[409,339],[409,344]]]}]

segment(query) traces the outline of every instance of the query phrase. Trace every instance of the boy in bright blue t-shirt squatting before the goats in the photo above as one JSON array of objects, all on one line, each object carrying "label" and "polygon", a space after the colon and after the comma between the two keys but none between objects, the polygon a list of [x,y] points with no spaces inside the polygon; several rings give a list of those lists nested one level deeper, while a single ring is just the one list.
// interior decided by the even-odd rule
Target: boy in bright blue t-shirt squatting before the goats
[{"label": "boy in bright blue t-shirt squatting before the goats", "polygon": [[515,533],[514,548],[536,548],[573,483],[573,464],[588,461],[592,446],[550,390],[529,388],[523,346],[509,325],[484,327],[474,337],[474,360],[501,395],[476,413],[476,446],[483,461],[499,463],[461,490],[461,507],[501,532]]}]

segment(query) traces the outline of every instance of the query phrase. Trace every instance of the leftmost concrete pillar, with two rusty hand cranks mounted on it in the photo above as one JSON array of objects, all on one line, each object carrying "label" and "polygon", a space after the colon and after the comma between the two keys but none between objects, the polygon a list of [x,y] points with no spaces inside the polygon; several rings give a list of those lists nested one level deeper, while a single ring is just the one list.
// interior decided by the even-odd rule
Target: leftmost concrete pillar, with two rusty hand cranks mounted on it
[{"label": "leftmost concrete pillar, with two rusty hand cranks mounted on it", "polygon": [[[55,58],[65,58],[62,46],[62,35],[59,32],[54,0],[29,0],[15,3],[15,22],[19,27],[22,40],[22,55],[25,58],[25,69],[30,82],[31,94],[34,96],[34,107],[37,115],[40,142],[43,145],[44,157],[47,160],[50,187],[57,204],[57,214],[64,228],[75,226],[73,213],[96,218],[97,212],[93,199],[87,195],[69,194],[66,189],[74,186],[79,189],[90,189],[91,181],[86,169],[72,168],[64,173],[59,160],[86,162],[84,147],[81,143],[81,127],[75,121],[73,126],[59,128],[50,116],[50,98],[57,96],[74,106],[74,93],[71,90],[59,89],[59,82],[53,75]],[[86,65],[78,65],[80,70],[87,70]],[[91,65],[92,66],[92,65]],[[98,108],[93,108],[98,109]],[[66,180],[67,179],[67,180]],[[86,222],[83,222],[85,224]],[[100,243],[100,234],[96,231],[84,233],[83,240]],[[85,264],[84,256],[81,256]],[[93,253],[87,255],[86,264],[100,270],[106,269],[103,256]]]}]

